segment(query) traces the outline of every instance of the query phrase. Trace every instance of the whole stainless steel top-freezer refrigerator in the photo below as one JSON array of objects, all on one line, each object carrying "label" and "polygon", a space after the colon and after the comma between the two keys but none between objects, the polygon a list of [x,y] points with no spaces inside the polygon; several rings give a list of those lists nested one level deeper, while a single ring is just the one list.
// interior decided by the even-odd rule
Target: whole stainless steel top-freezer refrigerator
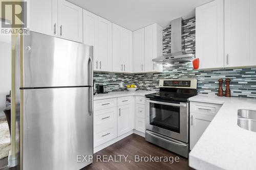
[{"label": "whole stainless steel top-freezer refrigerator", "polygon": [[15,53],[20,169],[92,163],[93,47],[30,31]]}]

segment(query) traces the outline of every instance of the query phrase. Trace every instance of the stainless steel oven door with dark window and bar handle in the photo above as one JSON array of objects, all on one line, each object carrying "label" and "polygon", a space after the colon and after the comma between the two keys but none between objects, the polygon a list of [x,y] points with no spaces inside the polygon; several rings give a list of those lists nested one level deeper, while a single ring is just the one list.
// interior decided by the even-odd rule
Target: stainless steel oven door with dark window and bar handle
[{"label": "stainless steel oven door with dark window and bar handle", "polygon": [[146,129],[188,143],[188,103],[146,100]]}]

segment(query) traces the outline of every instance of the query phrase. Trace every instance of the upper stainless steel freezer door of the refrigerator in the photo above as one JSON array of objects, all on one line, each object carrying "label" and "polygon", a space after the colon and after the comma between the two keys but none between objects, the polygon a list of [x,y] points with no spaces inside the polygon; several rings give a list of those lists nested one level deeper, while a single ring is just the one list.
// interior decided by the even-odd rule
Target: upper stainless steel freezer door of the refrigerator
[{"label": "upper stainless steel freezer door of the refrigerator", "polygon": [[23,51],[23,87],[90,85],[93,46],[30,31]]}]

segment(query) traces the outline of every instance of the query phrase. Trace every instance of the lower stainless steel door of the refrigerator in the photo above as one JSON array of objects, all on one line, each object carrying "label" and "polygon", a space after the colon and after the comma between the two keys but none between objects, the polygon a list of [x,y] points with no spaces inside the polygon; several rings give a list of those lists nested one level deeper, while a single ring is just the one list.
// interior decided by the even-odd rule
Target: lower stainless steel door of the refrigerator
[{"label": "lower stainless steel door of the refrigerator", "polygon": [[[93,155],[92,87],[25,89],[23,169],[81,169]],[[88,160],[87,156],[87,160]]]}]

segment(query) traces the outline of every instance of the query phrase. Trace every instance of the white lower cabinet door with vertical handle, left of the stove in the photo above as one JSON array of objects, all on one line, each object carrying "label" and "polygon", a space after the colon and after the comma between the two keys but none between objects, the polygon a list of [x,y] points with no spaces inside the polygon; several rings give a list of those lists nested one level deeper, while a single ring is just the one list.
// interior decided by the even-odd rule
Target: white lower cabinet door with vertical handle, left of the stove
[{"label": "white lower cabinet door with vertical handle, left of the stove", "polygon": [[118,106],[117,115],[117,136],[131,131],[131,105]]}]

